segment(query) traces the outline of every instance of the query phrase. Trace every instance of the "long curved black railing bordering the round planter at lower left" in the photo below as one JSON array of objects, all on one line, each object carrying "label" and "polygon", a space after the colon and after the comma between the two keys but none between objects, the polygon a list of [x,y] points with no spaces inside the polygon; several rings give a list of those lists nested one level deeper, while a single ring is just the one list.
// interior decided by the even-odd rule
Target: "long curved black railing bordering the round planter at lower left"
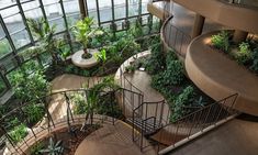
[{"label": "long curved black railing bordering the round planter at lower left", "polygon": [[[97,80],[92,82],[97,82]],[[112,110],[114,110],[116,91],[120,91],[120,89],[98,92],[99,96],[106,100],[104,102],[105,107],[111,110],[109,117],[98,111],[92,111],[91,114],[89,112],[76,111],[75,97],[80,96],[80,100],[88,102],[89,89],[55,91],[48,96],[19,106],[0,119],[0,131],[3,133],[1,139],[5,142],[5,150],[10,154],[23,155],[27,148],[43,139],[43,134],[49,134],[58,129],[67,128],[68,131],[72,131],[75,125],[81,125],[81,129],[83,129],[85,124],[101,124],[103,122],[114,124],[116,119],[112,115],[114,113]],[[26,112],[24,111],[24,108],[30,103],[41,106],[44,111],[42,118],[33,125],[30,124],[30,120],[25,117]],[[97,104],[100,103],[98,102]],[[9,121],[14,118],[18,121],[14,126],[25,125],[27,131],[26,136],[19,142],[14,141],[11,134],[14,132],[14,126],[10,128],[8,125]]]}]

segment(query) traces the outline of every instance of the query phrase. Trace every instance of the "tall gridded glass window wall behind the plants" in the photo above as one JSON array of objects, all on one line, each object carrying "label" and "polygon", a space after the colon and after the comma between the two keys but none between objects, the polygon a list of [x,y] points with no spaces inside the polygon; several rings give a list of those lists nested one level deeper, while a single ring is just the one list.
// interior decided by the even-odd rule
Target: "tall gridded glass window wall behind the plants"
[{"label": "tall gridded glass window wall behind the plants", "polygon": [[[96,24],[115,27],[114,33],[126,30],[128,21],[142,24],[153,16],[147,12],[148,0],[83,0],[87,14]],[[19,53],[37,42],[26,19],[45,19],[56,25],[56,37],[66,37],[66,47],[72,51],[70,29],[80,19],[78,0],[0,0],[0,95],[10,90],[9,77],[26,59]],[[152,20],[153,21],[153,20]],[[113,26],[115,25],[115,26]],[[47,55],[38,57],[47,65]],[[38,59],[36,58],[36,59]],[[30,59],[30,58],[29,58]]]}]

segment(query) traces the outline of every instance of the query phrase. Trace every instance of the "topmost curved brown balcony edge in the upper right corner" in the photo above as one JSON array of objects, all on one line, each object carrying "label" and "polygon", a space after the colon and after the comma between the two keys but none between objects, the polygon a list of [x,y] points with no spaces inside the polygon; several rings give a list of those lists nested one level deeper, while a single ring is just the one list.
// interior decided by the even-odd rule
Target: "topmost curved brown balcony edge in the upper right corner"
[{"label": "topmost curved brown balcony edge in the upper right corner", "polygon": [[[258,33],[258,9],[227,3],[222,0],[175,0],[214,22],[250,33]],[[201,7],[200,7],[201,5]]]}]

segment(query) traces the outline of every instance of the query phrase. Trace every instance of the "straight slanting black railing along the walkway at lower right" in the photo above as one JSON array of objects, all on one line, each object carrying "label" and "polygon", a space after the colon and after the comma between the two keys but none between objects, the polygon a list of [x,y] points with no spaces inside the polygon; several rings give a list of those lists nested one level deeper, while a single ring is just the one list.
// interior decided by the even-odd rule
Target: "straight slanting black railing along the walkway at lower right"
[{"label": "straight slanting black railing along the walkway at lower right", "polygon": [[234,109],[237,96],[226,97],[162,126],[154,135],[155,141],[167,146],[159,154],[166,154],[236,117],[239,113]]}]

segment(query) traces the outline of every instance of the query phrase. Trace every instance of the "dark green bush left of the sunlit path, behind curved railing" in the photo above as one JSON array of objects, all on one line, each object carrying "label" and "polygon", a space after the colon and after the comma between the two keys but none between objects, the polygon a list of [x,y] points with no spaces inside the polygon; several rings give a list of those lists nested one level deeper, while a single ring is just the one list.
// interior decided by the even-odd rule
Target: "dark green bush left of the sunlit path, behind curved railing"
[{"label": "dark green bush left of the sunlit path, behind curved railing", "polygon": [[38,103],[29,103],[23,108],[23,111],[30,128],[42,120],[45,114],[43,104]]}]

